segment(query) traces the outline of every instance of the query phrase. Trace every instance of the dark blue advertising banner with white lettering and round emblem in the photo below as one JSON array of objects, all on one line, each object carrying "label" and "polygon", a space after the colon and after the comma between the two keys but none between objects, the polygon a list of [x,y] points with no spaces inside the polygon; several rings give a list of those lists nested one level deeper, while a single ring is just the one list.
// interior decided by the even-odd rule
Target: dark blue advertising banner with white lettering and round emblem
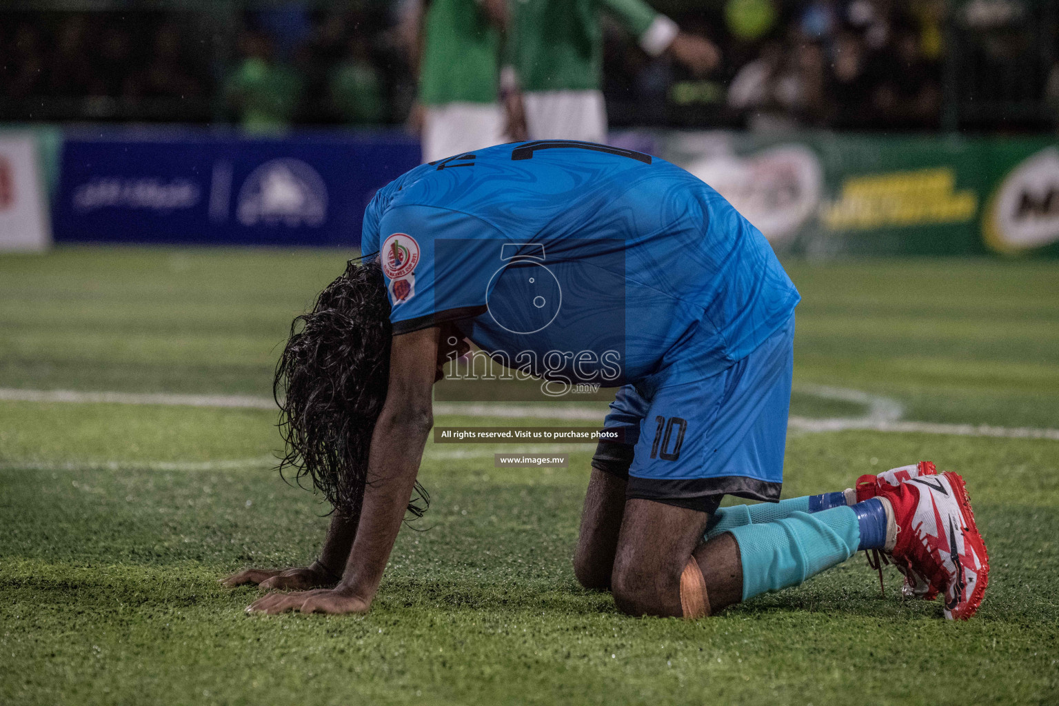
[{"label": "dark blue advertising banner with white lettering and round emblem", "polygon": [[375,192],[419,163],[399,134],[95,135],[64,145],[57,241],[356,247]]}]

